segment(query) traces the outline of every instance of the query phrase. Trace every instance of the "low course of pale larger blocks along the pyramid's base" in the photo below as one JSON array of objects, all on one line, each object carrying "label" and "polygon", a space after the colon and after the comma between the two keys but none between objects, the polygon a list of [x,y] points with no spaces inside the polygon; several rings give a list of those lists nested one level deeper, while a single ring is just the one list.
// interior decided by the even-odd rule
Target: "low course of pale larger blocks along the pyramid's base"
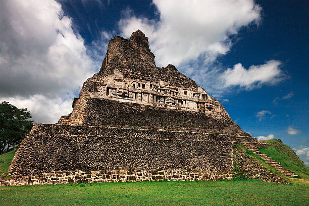
[{"label": "low course of pale larger blocks along the pyramid's base", "polygon": [[66,184],[92,182],[144,182],[144,181],[216,181],[232,179],[234,172],[168,170],[102,170],[53,171],[42,175],[20,176],[1,180],[0,186]]}]

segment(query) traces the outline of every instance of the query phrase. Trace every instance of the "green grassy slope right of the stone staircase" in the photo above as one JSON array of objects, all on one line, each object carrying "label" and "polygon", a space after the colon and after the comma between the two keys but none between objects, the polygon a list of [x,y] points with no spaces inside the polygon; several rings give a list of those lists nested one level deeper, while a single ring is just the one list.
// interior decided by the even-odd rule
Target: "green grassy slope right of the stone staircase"
[{"label": "green grassy slope right of the stone staircase", "polygon": [[303,164],[289,146],[276,139],[266,141],[271,146],[260,149],[262,153],[267,154],[286,169],[294,171],[302,179],[309,180],[309,168]]}]

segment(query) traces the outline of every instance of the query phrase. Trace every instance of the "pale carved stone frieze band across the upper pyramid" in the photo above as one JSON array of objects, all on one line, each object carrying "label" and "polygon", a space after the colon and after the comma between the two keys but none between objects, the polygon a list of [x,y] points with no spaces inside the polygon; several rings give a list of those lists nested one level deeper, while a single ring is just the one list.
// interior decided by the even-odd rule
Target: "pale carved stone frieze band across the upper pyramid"
[{"label": "pale carved stone frieze band across the upper pyramid", "polygon": [[98,92],[90,93],[90,97],[176,110],[227,114],[219,101],[214,100],[201,87],[192,89],[171,86],[165,81],[145,82],[124,78],[119,72],[105,77],[99,83]]}]

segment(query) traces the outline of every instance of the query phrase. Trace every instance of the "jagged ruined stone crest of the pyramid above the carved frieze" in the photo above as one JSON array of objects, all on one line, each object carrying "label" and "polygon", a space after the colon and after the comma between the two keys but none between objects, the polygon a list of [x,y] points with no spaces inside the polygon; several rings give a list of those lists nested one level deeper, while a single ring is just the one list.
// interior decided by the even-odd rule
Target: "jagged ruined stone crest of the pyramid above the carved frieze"
[{"label": "jagged ruined stone crest of the pyramid above the carved frieze", "polygon": [[197,88],[196,83],[178,72],[176,67],[156,67],[155,55],[150,52],[148,38],[140,31],[132,33],[130,39],[115,36],[108,46],[106,57],[99,75],[114,74],[120,71],[124,77],[142,79],[147,82],[165,81],[172,86]]}]

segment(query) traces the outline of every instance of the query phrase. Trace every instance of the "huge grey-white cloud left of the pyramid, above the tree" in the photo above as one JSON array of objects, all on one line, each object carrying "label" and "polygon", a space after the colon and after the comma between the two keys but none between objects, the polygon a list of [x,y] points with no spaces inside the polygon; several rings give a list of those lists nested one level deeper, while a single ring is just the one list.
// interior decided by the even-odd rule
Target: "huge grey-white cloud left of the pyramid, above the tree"
[{"label": "huge grey-white cloud left of the pyramid, above the tree", "polygon": [[83,39],[53,0],[4,1],[0,19],[0,101],[56,122],[93,73]]}]

